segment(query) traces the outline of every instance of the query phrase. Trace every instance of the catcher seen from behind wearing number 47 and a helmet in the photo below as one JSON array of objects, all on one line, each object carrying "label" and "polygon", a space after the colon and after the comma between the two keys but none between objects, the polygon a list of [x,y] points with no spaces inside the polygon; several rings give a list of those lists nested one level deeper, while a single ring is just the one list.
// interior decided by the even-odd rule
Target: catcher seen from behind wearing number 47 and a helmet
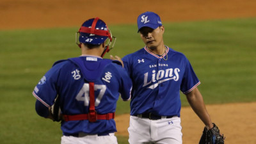
[{"label": "catcher seen from behind wearing number 47 and a helmet", "polygon": [[86,20],[77,38],[82,55],[57,61],[35,86],[36,112],[55,120],[60,107],[61,143],[117,143],[116,101],[130,99],[132,81],[120,61],[102,59],[114,41],[104,21]]}]

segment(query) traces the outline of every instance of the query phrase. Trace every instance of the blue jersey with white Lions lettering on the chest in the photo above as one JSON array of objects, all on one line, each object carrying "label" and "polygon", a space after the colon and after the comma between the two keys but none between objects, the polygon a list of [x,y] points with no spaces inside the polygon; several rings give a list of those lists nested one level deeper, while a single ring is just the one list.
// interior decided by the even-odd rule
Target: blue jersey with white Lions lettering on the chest
[{"label": "blue jersey with white Lions lettering on the chest", "polygon": [[132,79],[131,115],[180,116],[180,90],[189,93],[200,84],[186,56],[169,47],[163,56],[144,47],[122,60]]}]

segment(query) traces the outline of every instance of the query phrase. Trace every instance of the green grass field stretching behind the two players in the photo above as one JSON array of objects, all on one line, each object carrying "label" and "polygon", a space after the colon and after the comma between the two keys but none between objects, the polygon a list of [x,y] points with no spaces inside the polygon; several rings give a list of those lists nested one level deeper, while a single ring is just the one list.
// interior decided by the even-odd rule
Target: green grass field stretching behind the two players
[{"label": "green grass field stretching behind the two players", "polygon": [[[202,84],[206,104],[256,101],[256,19],[164,23],[164,42],[183,52]],[[111,54],[143,47],[135,25],[109,26]],[[36,115],[34,86],[57,60],[79,56],[78,28],[0,31],[0,140],[2,144],[60,143],[60,124]],[[105,56],[108,58],[109,54]],[[188,106],[181,95],[182,106]],[[129,113],[118,101],[117,114]],[[118,137],[127,143],[127,138]]]}]

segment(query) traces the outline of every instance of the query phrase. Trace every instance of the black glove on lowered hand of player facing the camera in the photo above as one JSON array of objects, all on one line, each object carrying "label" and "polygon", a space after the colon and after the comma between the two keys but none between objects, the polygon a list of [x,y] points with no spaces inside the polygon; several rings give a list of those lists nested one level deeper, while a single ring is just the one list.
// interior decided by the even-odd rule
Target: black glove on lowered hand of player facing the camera
[{"label": "black glove on lowered hand of player facing the camera", "polygon": [[220,135],[220,130],[214,123],[212,129],[207,131],[207,128],[204,127],[203,134],[199,141],[199,144],[224,144],[224,136]]}]

